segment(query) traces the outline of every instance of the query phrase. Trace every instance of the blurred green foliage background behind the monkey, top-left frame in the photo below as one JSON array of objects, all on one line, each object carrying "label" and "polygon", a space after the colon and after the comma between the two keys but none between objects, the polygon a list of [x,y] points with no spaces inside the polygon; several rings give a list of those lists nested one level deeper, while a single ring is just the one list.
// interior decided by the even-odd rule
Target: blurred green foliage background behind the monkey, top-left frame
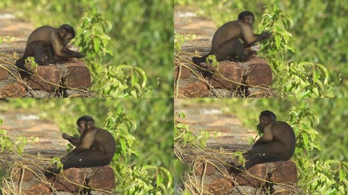
[{"label": "blurred green foliage background behind the monkey, top-left frame", "polygon": [[[4,0],[0,2],[0,9],[9,10],[8,12],[18,17],[28,19],[36,27],[42,25],[58,27],[68,23],[76,30],[81,23],[83,11],[92,13],[94,8],[97,8],[96,10],[110,22],[111,26],[111,30],[107,32],[111,43],[106,49],[112,51],[113,55],[103,56],[104,63],[112,64],[114,67],[122,64],[139,67],[146,73],[148,85],[150,87],[156,85],[153,90],[144,93],[144,96],[172,97],[172,1]],[[117,70],[106,71],[113,72],[115,77],[119,74]],[[134,79],[132,73],[126,72],[126,74],[130,75],[130,79]],[[160,84],[157,86],[158,77]]]}]

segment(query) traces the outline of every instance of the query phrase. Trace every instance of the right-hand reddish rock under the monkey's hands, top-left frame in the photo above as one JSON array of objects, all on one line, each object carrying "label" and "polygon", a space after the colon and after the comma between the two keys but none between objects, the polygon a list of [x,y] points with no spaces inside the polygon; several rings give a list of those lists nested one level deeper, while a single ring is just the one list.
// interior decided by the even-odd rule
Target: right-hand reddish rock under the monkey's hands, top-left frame
[{"label": "right-hand reddish rock under the monkey's hands, top-left frame", "polygon": [[65,63],[67,72],[64,74],[64,83],[66,87],[90,87],[91,73],[90,70],[80,63]]}]

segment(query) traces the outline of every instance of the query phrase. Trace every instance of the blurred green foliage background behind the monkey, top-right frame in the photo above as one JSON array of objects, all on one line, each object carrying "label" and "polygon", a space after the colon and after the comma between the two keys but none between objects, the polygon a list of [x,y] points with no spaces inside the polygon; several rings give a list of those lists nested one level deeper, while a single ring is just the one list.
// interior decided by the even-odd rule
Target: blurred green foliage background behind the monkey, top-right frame
[{"label": "blurred green foliage background behind the monkey, top-right frame", "polygon": [[[295,52],[284,54],[283,61],[295,62],[293,65],[296,66],[297,62],[302,61],[324,64],[330,73],[329,83],[337,83],[332,94],[337,97],[348,96],[348,67],[346,66],[348,60],[348,49],[346,49],[348,21],[345,17],[348,12],[347,0],[255,0],[252,4],[241,0],[175,0],[174,2],[176,6],[195,7],[197,14],[212,18],[218,26],[236,20],[238,13],[243,10],[254,13],[254,26],[257,26],[266,11],[265,6],[272,8],[277,5],[293,20],[293,25],[288,26],[287,30],[293,35]],[[305,69],[301,69],[301,71],[304,72]],[[316,73],[313,72],[313,74]],[[312,77],[317,78],[317,76]],[[313,89],[311,92],[315,95],[316,93],[320,94],[316,90]]]}]

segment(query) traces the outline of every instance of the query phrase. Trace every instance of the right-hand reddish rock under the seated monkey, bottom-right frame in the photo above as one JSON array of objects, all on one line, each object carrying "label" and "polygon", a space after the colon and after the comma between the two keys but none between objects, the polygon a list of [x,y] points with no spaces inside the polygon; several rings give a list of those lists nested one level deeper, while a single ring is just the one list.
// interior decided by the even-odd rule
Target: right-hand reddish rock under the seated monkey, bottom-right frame
[{"label": "right-hand reddish rock under the seated monkey, bottom-right frame", "polygon": [[271,182],[294,183],[297,181],[297,168],[293,161],[277,161],[270,173]]}]

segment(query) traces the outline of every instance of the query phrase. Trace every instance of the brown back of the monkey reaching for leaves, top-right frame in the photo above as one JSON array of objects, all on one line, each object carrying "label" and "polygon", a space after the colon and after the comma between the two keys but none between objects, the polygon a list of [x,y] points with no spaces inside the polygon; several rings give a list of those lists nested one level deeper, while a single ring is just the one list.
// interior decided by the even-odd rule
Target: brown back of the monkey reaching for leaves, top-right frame
[{"label": "brown back of the monkey reaching for leaves, top-right frame", "polygon": [[238,20],[230,21],[222,26],[220,26],[214,36],[212,41],[212,49],[211,51],[215,51],[218,49],[222,43],[224,43],[227,40],[233,39],[233,38],[241,38],[242,37],[242,22]]}]

